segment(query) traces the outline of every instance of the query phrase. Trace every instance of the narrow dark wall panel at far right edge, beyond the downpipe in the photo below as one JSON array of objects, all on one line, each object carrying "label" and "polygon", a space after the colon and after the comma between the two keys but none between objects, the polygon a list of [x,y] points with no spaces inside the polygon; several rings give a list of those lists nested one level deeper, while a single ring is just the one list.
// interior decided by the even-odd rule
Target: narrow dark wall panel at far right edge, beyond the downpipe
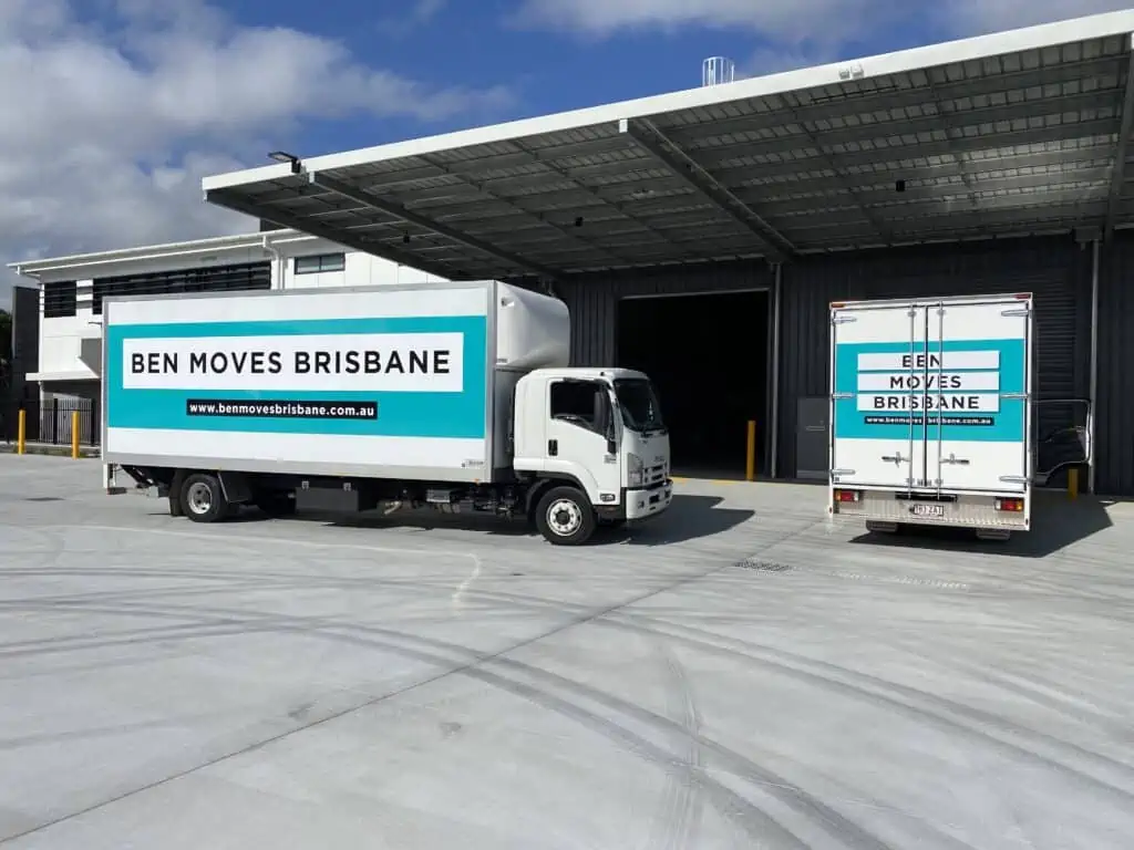
[{"label": "narrow dark wall panel at far right edge, beyond the downpipe", "polygon": [[1103,246],[1099,275],[1095,492],[1134,496],[1134,233]]}]

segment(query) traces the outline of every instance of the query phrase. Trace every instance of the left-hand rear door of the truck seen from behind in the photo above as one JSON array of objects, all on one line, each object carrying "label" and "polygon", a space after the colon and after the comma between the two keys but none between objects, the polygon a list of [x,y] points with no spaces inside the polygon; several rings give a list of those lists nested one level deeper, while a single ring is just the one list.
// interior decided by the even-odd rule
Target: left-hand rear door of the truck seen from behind
[{"label": "left-hand rear door of the truck seen from behind", "polygon": [[831,479],[909,490],[925,468],[925,309],[831,311]]}]

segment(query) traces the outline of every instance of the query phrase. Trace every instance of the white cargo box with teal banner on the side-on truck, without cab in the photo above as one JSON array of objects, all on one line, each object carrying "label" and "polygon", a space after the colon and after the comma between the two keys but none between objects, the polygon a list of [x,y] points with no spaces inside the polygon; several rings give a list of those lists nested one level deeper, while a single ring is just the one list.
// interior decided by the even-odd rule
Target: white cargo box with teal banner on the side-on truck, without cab
[{"label": "white cargo box with teal banner on the side-on truck, without cab", "polygon": [[511,389],[570,337],[497,281],[108,298],[103,325],[107,464],[438,482],[508,466]]}]

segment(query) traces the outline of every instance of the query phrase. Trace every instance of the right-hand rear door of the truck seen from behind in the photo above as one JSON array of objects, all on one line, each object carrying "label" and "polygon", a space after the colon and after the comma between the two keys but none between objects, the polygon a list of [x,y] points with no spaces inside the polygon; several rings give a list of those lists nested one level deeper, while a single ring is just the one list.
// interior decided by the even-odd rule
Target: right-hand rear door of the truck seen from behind
[{"label": "right-hand rear door of the truck seen from behind", "polygon": [[926,308],[930,418],[925,477],[933,488],[1022,493],[1031,299],[946,303]]}]

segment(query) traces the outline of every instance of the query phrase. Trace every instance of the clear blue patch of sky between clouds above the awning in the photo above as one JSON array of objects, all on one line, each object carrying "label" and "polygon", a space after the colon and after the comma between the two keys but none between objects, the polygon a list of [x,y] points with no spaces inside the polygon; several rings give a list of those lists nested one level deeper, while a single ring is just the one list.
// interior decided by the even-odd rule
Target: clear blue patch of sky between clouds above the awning
[{"label": "clear blue patch of sky between clouds above the awning", "polygon": [[[286,139],[305,155],[689,88],[700,84],[701,62],[709,56],[733,58],[741,73],[751,74],[915,46],[951,35],[940,22],[922,15],[895,22],[879,14],[877,29],[845,40],[788,40],[756,27],[718,25],[709,17],[700,25],[670,26],[665,15],[648,14],[640,16],[640,23],[609,31],[572,28],[555,20],[517,19],[523,5],[515,0],[332,0],[327,7],[315,19],[311,3],[299,0],[226,3],[248,26],[296,26],[341,40],[366,61],[438,87],[457,83],[472,88],[507,86],[513,97],[490,112],[454,114],[435,122],[393,116],[307,124]],[[359,25],[359,20],[365,23]]]}]

